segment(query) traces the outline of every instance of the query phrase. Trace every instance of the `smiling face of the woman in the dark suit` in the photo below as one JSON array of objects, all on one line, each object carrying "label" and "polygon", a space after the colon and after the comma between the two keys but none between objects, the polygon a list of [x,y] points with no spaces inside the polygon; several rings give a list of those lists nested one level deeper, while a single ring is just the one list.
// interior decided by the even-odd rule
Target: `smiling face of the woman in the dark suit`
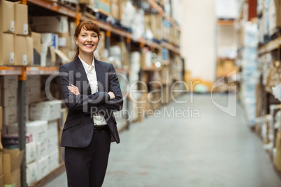
[{"label": "smiling face of the woman in the dark suit", "polygon": [[99,37],[96,32],[82,28],[75,43],[79,47],[79,55],[92,56],[99,45]]}]

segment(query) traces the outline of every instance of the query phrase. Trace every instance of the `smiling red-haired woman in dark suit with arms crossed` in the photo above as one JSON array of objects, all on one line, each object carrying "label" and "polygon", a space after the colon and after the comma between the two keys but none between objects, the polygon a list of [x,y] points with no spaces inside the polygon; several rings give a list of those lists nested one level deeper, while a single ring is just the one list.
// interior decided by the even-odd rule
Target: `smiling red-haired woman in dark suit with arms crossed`
[{"label": "smiling red-haired woman in dark suit with arms crossed", "polygon": [[113,111],[122,110],[122,92],[113,65],[94,58],[100,30],[93,22],[75,29],[76,54],[59,68],[69,113],[62,132],[68,186],[101,186],[110,142],[120,143]]}]

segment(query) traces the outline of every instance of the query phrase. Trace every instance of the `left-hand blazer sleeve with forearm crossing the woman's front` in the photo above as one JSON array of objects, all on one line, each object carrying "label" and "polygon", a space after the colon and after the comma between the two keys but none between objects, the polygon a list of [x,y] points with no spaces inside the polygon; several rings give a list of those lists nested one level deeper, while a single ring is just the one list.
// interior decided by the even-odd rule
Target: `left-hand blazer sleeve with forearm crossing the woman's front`
[{"label": "left-hand blazer sleeve with forearm crossing the woman's front", "polygon": [[64,103],[69,110],[83,110],[88,112],[91,107],[97,107],[106,103],[106,100],[110,100],[110,96],[107,92],[99,91],[91,95],[79,94],[75,95],[69,89],[68,86],[74,84],[74,73],[71,75],[70,70],[66,66],[60,66],[59,78],[62,87],[62,97]]}]

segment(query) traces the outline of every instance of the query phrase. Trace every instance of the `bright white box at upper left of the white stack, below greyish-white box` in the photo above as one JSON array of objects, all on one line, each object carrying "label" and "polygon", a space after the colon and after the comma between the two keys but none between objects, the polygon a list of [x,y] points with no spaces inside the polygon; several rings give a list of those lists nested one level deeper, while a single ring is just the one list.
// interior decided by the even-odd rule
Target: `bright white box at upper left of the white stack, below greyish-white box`
[{"label": "bright white box at upper left of the white stack, below greyish-white box", "polygon": [[26,124],[27,133],[32,134],[34,142],[47,141],[48,137],[48,121],[28,121]]}]

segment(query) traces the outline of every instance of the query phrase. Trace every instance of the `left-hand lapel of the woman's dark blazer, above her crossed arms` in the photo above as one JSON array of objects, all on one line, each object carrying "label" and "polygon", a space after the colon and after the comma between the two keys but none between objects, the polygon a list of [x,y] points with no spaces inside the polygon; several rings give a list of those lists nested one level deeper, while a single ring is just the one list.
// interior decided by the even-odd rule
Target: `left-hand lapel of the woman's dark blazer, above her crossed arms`
[{"label": "left-hand lapel of the woman's dark blazer, above her crossed arms", "polygon": [[79,57],[77,57],[74,61],[75,63],[75,77],[77,79],[77,82],[74,82],[74,84],[77,84],[76,87],[78,87],[80,93],[85,93],[87,90],[87,95],[91,94],[91,87],[89,87],[89,80],[87,78],[87,74],[85,72],[85,68],[82,65],[82,62],[80,61]]}]

